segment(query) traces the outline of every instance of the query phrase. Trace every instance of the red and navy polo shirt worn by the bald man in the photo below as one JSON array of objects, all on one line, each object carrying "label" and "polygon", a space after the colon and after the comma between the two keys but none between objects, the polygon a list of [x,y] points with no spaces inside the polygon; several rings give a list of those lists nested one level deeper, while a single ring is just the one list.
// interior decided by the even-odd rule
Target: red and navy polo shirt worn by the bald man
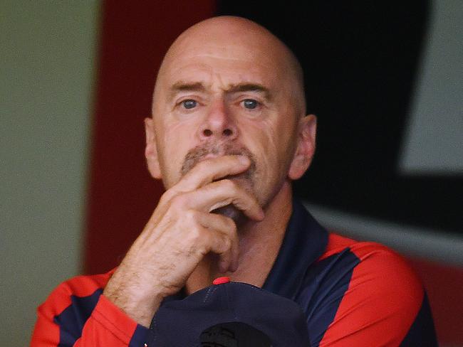
[{"label": "red and navy polo shirt worn by the bald man", "polygon": [[[38,307],[31,346],[155,347],[152,330],[102,294],[114,271],[61,283]],[[407,262],[378,243],[328,233],[297,200],[262,288],[301,306],[311,346],[437,346]]]}]

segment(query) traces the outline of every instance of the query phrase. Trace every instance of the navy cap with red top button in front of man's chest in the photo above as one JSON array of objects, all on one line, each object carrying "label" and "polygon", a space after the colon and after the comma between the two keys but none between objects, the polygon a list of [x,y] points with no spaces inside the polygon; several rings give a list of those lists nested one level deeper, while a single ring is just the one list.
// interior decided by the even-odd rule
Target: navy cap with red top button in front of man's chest
[{"label": "navy cap with red top button in front of man's chest", "polygon": [[306,347],[306,318],[294,301],[226,278],[182,300],[167,301],[153,319],[156,347]]}]

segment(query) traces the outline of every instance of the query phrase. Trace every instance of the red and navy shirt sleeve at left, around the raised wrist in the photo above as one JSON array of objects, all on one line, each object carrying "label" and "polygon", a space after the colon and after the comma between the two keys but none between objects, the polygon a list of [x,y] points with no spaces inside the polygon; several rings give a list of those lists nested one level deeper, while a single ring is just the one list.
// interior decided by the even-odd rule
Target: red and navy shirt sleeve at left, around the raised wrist
[{"label": "red and navy shirt sleeve at left, around the raised wrist", "polygon": [[31,346],[146,346],[149,329],[102,294],[107,280],[80,276],[60,284],[38,307]]}]

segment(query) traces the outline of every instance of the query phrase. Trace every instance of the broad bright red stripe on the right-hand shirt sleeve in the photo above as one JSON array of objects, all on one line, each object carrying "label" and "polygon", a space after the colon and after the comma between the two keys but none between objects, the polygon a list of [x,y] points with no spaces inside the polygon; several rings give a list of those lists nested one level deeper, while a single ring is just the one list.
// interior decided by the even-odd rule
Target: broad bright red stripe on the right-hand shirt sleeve
[{"label": "broad bright red stripe on the right-hand shirt sleeve", "polygon": [[422,284],[387,247],[335,238],[343,247],[352,241],[360,263],[320,346],[399,346],[420,310]]}]

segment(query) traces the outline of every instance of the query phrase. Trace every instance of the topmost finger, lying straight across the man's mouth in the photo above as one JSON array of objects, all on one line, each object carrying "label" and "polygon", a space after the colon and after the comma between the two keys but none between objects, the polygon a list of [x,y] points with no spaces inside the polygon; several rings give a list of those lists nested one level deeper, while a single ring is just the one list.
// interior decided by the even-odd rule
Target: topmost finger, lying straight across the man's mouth
[{"label": "topmost finger, lying straight across the man's mouth", "polygon": [[242,173],[251,161],[246,156],[227,155],[206,159],[193,167],[174,187],[176,191],[194,191],[219,178]]}]

